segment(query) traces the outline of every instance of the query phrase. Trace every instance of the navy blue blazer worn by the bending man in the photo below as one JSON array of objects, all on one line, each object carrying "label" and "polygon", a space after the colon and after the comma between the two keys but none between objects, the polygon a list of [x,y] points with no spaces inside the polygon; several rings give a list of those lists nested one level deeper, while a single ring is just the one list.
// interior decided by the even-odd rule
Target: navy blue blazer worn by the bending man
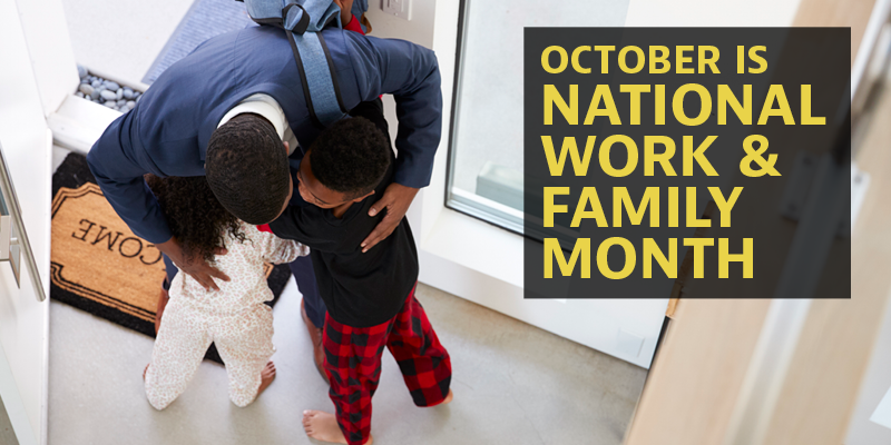
[{"label": "navy blue blazer worn by the bending man", "polygon": [[[399,117],[395,181],[429,185],[442,128],[433,51],[341,29],[326,29],[322,36],[346,109],[393,95]],[[172,237],[143,175],[204,176],[207,141],[223,115],[261,92],[278,102],[297,141],[309,147],[322,128],[311,121],[284,31],[273,27],[248,27],[202,43],[108,126],[87,161],[108,201],[137,236],[155,244]]]}]

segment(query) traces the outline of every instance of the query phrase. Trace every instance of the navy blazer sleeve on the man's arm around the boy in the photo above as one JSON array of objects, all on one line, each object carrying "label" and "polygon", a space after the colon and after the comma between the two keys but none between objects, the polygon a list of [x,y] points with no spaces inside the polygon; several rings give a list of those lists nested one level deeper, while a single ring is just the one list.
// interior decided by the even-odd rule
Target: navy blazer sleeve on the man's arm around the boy
[{"label": "navy blazer sleeve on the man's arm around the boy", "polygon": [[442,132],[442,92],[433,51],[398,39],[344,32],[362,100],[390,93],[396,102],[399,131],[395,181],[421,188],[430,184]]}]

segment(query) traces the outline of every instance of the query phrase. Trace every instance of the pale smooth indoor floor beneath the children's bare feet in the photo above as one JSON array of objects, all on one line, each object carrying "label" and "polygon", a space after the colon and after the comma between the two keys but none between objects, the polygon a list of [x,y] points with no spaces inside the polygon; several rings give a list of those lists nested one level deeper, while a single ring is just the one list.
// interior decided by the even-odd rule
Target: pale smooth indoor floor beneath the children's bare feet
[{"label": "pale smooth indoor floor beneath the children's bare feet", "polygon": [[[385,354],[372,432],[380,444],[620,444],[646,372],[421,285],[418,298],[452,355],[454,402],[417,408]],[[151,338],[52,303],[49,444],[309,444],[303,409],[330,409],[292,281],[276,305],[278,375],[253,405],[228,400],[204,363],[166,411],[146,402]]]}]

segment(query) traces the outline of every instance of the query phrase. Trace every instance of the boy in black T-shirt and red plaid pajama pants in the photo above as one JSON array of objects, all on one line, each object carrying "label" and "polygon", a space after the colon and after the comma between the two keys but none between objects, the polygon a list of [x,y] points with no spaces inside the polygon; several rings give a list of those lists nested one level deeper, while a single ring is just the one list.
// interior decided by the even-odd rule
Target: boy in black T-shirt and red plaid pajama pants
[{"label": "boy in black T-shirt and red plaid pajama pants", "polygon": [[[371,396],[386,346],[418,406],[449,403],[451,360],[414,298],[418,253],[407,219],[362,253],[361,241],[382,214],[369,217],[375,194],[393,181],[394,157],[380,100],[313,142],[296,171],[297,189],[311,206],[288,206],[268,227],[312,248],[319,293],[327,306],[323,345],[330,396],[336,414],[304,412],[310,437],[370,444]],[[263,230],[264,226],[260,226]]]}]

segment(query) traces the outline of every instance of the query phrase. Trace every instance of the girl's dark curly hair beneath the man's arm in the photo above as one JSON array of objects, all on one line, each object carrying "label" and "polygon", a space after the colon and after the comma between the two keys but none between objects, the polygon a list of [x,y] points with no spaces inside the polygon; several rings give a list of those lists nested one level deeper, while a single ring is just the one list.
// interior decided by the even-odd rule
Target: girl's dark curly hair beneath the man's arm
[{"label": "girl's dark curly hair beneath the man's arm", "polygon": [[244,243],[241,220],[219,204],[203,176],[159,178],[146,175],[145,179],[189,259],[198,257],[213,261],[214,249],[225,247],[226,235]]}]

